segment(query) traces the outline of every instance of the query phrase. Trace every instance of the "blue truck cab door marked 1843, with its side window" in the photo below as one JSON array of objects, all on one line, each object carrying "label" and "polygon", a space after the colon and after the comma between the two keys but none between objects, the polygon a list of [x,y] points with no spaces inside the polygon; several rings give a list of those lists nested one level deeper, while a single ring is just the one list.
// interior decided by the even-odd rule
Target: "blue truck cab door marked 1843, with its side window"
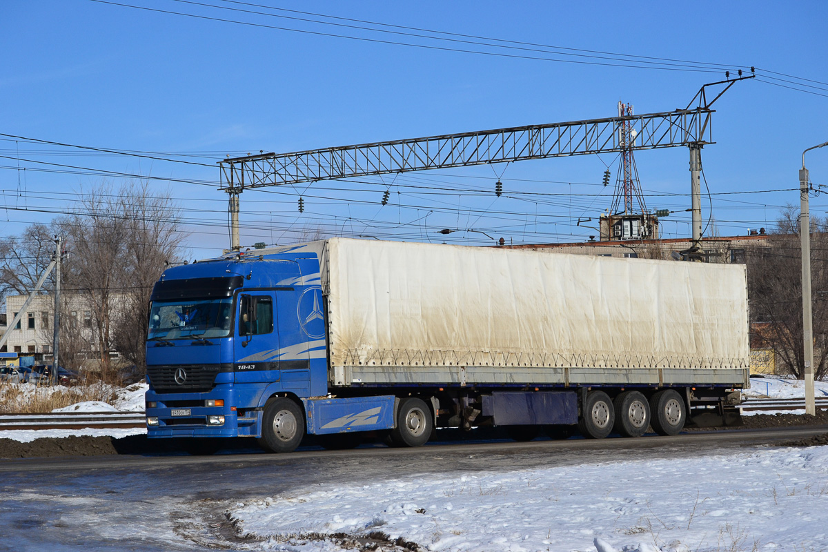
[{"label": "blue truck cab door marked 1843, with its side window", "polygon": [[233,371],[237,383],[280,380],[275,299],[272,291],[238,295],[233,330]]}]

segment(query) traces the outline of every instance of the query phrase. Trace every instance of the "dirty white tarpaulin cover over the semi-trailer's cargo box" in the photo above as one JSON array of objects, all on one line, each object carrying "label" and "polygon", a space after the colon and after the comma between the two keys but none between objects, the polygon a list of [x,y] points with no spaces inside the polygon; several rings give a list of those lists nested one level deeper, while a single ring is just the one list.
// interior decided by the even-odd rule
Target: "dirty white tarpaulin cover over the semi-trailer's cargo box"
[{"label": "dirty white tarpaulin cover over the semi-trailer's cargo box", "polygon": [[748,367],[745,267],[327,240],[335,366]]}]

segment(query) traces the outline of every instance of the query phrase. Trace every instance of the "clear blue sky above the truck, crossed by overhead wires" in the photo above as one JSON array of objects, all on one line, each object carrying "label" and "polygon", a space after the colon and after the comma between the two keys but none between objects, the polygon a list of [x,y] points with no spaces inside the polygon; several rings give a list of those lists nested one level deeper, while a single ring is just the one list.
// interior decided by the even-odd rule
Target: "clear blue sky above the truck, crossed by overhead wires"
[{"label": "clear blue sky above the truck, crossed by overhead wires", "polygon": [[[203,1],[268,12],[264,7]],[[251,2],[512,41],[723,64],[733,70],[753,65],[828,81],[824,2],[694,2],[689,7],[686,2]],[[173,0],[120,3],[426,43]],[[162,157],[206,165],[226,154],[259,150],[300,151],[610,117],[617,113],[619,100],[633,103],[636,113],[667,111],[685,107],[701,84],[724,78],[725,70],[643,70],[473,55],[89,0],[9,0],[0,15],[0,132],[160,152]],[[796,82],[801,90],[811,84],[819,87],[811,91],[828,96],[826,84]],[[715,104],[716,143],[705,147],[702,160],[720,235],[773,226],[782,205],[798,205],[796,191],[763,190],[797,187],[802,150],[828,140],[826,96],[746,81],[735,84]],[[0,169],[2,235],[21,233],[26,223],[54,216],[19,209],[70,209],[71,192],[103,179],[99,174],[36,170],[50,167],[42,162],[154,179],[207,184],[219,179],[219,170],[209,166],[13,139],[0,141],[0,155],[6,156],[0,158],[5,167]],[[641,151],[636,161],[649,208],[690,206],[686,148]],[[828,148],[809,153],[806,164],[813,182],[828,184]],[[595,231],[578,228],[575,221],[609,209],[612,186],[600,186],[605,165],[614,182],[614,156],[580,156],[410,173],[396,181],[386,176],[367,179],[373,184],[365,185],[328,182],[309,188],[248,190],[241,197],[242,242],[288,242],[317,230],[326,235],[441,242],[445,237],[436,233],[440,228],[475,228],[513,242],[581,241]],[[445,188],[493,191],[498,176],[504,185],[502,198],[493,193],[433,193]],[[114,185],[120,181],[115,176],[109,180]],[[185,209],[182,230],[190,233],[195,257],[228,247],[226,194],[176,181],[152,180],[152,185],[170,187]],[[436,190],[423,194],[412,185]],[[383,207],[379,200],[386,187],[392,200]],[[554,195],[532,196],[542,198],[536,201],[521,195],[526,192]],[[750,193],[723,195],[732,192]],[[299,194],[306,203],[301,215],[296,209]],[[702,205],[706,221],[709,199],[705,197]],[[811,209],[825,214],[826,196],[812,199]],[[664,219],[664,235],[686,236],[687,215]],[[489,242],[481,233],[449,238]]]}]

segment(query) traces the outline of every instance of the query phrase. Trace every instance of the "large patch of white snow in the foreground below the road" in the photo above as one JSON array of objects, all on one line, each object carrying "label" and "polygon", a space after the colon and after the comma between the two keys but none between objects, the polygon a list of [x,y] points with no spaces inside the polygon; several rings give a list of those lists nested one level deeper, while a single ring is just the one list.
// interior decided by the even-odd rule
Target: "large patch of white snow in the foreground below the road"
[{"label": "large patch of white snow in the foreground below the road", "polygon": [[381,531],[451,552],[816,552],[828,547],[828,447],[382,481],[366,473],[230,513],[262,538],[251,541],[258,550],[333,552],[345,550],[336,533]]}]

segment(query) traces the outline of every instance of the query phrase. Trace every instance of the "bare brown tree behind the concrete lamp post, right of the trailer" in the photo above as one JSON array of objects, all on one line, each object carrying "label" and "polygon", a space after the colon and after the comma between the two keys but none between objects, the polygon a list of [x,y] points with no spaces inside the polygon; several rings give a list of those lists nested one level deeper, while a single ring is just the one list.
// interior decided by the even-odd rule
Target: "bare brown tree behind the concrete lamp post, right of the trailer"
[{"label": "bare brown tree behind the concrete lamp post, right of the trailer", "polygon": [[[753,342],[771,348],[782,367],[804,377],[802,254],[798,209],[788,206],[763,247],[746,253]],[[815,376],[828,373],[828,233],[826,220],[811,225],[811,285]]]}]

